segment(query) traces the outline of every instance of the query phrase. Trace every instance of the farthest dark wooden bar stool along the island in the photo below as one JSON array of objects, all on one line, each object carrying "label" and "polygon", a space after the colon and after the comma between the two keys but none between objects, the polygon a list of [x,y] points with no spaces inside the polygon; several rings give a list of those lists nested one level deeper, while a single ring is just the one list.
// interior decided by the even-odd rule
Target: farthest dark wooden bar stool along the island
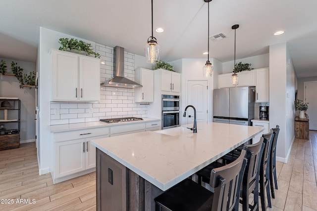
[{"label": "farthest dark wooden bar stool along the island", "polygon": [[272,141],[271,153],[270,153],[269,169],[271,173],[269,174],[269,184],[271,188],[272,198],[275,199],[273,180],[275,184],[275,189],[277,190],[278,188],[277,188],[277,179],[276,179],[276,142],[277,142],[277,137],[279,133],[279,126],[276,125],[276,127],[272,128],[272,130],[274,133],[274,138]]}]

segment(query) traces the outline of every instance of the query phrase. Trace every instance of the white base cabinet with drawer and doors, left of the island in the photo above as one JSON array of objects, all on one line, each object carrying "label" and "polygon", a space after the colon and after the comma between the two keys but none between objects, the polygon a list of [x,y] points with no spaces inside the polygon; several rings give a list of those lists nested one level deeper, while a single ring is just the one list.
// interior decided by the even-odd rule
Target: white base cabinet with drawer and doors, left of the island
[{"label": "white base cabinet with drawer and doors, left of the island", "polygon": [[[93,168],[96,167],[96,147],[91,145],[90,141],[108,137],[108,134],[108,127],[53,133],[54,182],[87,173],[85,170],[88,169],[94,170]],[[64,179],[59,179],[61,177]]]}]

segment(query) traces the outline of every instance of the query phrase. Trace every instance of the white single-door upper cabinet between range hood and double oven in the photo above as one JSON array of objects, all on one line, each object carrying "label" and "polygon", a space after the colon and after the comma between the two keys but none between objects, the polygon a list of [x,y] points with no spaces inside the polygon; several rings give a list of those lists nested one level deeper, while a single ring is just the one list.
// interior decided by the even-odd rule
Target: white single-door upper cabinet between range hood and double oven
[{"label": "white single-door upper cabinet between range hood and double oven", "polygon": [[134,101],[136,103],[154,101],[154,71],[145,68],[135,70],[135,82],[143,87],[134,89]]}]

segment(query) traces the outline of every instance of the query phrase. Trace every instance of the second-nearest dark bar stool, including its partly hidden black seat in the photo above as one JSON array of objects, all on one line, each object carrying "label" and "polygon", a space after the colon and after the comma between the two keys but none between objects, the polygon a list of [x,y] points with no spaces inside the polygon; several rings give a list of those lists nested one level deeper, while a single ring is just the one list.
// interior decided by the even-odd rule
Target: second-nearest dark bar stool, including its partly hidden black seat
[{"label": "second-nearest dark bar stool, including its partly hidden black seat", "polygon": [[[251,145],[245,145],[244,147],[247,148],[246,153],[246,159],[247,159],[247,165],[245,169],[245,173],[243,175],[243,181],[242,181],[242,189],[240,192],[240,197],[242,197],[242,200],[240,200],[240,204],[242,204],[243,211],[249,211],[249,208],[251,211],[259,210],[259,172],[260,172],[260,166],[261,166],[261,159],[262,159],[262,153],[264,150],[264,138],[261,137],[260,141],[251,144]],[[239,153],[239,148],[237,150],[228,153],[227,155],[223,156],[222,159],[225,160],[225,162],[232,162],[235,159],[237,159],[237,153]],[[220,164],[218,162],[214,162],[211,165],[207,166],[207,168],[204,168],[197,172],[198,178],[202,178],[201,180],[203,182],[209,182],[210,180],[210,172],[212,165],[219,166],[224,165]],[[209,173],[208,173],[209,170]],[[199,179],[199,181],[201,181]],[[254,193],[254,204],[249,204],[249,195],[251,193]]]}]

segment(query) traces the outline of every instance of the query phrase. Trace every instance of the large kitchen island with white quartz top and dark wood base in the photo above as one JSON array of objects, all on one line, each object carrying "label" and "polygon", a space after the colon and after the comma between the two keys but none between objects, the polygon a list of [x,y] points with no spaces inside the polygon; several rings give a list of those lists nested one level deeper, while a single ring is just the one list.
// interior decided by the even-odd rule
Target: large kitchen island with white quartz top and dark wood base
[{"label": "large kitchen island with white quartz top and dark wood base", "polygon": [[95,139],[97,210],[155,210],[153,199],[263,131],[211,122]]}]

